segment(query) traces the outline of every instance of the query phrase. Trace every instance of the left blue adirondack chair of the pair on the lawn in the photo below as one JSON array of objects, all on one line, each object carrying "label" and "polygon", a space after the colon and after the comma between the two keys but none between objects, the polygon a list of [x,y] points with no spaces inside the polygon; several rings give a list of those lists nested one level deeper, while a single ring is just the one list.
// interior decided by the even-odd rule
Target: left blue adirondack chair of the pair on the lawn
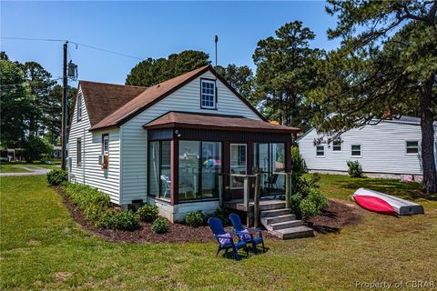
[{"label": "left blue adirondack chair of the pair on the lawn", "polygon": [[248,247],[246,246],[246,242],[244,242],[243,240],[239,240],[239,242],[235,243],[234,240],[232,239],[232,236],[236,236],[236,234],[226,232],[219,218],[210,217],[208,219],[208,225],[211,228],[212,234],[214,235],[214,237],[217,239],[217,242],[219,243],[219,249],[217,250],[216,256],[219,255],[219,252],[222,249],[225,250],[225,255],[228,254],[229,249],[232,249],[234,258],[238,261],[239,248],[243,248],[243,247],[246,249],[246,254],[248,254]]}]

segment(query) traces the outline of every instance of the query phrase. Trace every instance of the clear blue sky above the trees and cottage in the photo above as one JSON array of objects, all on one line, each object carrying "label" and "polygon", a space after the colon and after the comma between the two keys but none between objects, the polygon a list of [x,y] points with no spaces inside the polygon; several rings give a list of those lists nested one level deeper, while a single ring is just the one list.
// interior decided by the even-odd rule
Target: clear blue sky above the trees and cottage
[{"label": "clear blue sky above the trees and cottage", "polygon": [[[0,3],[0,35],[70,40],[136,56],[109,54],[82,45],[68,45],[68,60],[79,79],[124,84],[131,68],[147,57],[167,57],[193,49],[219,65],[249,65],[261,39],[295,20],[316,34],[312,47],[334,49],[326,31],[336,19],[322,1],[282,2],[5,2]],[[18,61],[36,61],[54,77],[62,75],[62,42],[0,39],[0,49]],[[70,82],[70,85],[76,85]]]}]

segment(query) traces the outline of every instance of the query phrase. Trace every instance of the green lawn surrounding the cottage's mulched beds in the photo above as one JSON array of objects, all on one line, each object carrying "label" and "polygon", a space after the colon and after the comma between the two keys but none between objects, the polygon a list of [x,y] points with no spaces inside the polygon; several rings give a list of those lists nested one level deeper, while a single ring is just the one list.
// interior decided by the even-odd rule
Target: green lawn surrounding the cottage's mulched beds
[{"label": "green lawn surrounding the cottage's mulched beds", "polygon": [[[329,196],[358,186],[416,197],[418,185],[322,176]],[[76,226],[45,176],[2,177],[0,289],[345,290],[355,282],[436,280],[437,202],[426,215],[364,213],[340,234],[267,240],[266,254],[234,262],[216,244],[117,244]]]}]

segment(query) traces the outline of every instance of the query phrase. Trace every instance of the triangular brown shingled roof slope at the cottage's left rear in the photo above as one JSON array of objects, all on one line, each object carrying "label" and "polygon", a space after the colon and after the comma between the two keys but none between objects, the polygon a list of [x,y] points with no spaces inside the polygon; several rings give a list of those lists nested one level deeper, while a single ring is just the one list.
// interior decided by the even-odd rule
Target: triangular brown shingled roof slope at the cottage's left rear
[{"label": "triangular brown shingled roof slope at the cottage's left rear", "polygon": [[91,126],[147,90],[147,87],[80,81]]}]

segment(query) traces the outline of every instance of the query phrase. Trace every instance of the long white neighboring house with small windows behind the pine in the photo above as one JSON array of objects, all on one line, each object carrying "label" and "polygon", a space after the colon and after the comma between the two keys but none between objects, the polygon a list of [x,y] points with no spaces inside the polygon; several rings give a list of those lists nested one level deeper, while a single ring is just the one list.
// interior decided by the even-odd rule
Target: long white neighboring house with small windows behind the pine
[{"label": "long white neighboring house with small windows behind the pine", "polygon": [[[310,129],[298,138],[300,154],[312,172],[345,174],[347,161],[359,161],[369,176],[415,176],[422,179],[421,119],[402,116],[378,125],[351,129],[330,144],[315,141],[323,135]],[[437,142],[437,132],[434,133]],[[323,140],[326,141],[326,136]],[[434,152],[435,148],[434,146]]]}]

